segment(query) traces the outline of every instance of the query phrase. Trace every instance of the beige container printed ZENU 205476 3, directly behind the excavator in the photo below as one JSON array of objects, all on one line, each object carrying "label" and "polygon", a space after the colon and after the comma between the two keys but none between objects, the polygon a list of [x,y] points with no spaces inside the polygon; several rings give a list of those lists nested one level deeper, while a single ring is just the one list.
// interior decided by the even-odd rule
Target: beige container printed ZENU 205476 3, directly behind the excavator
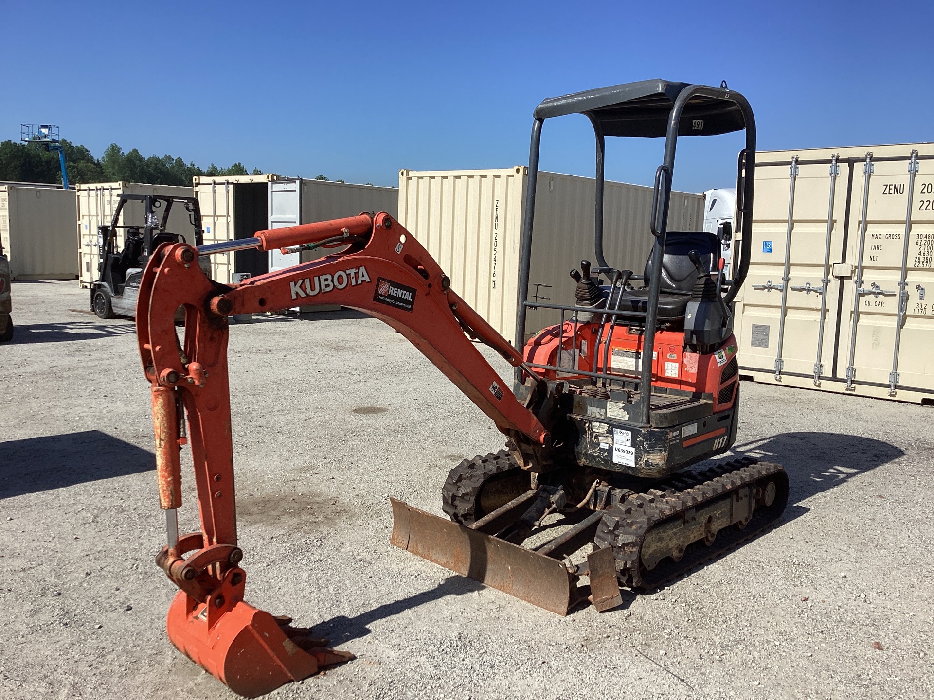
[{"label": "beige container printed ZENU 205476 3, directly behind the excavator", "polygon": [[[451,278],[451,287],[511,343],[516,334],[519,249],[529,168],[399,173],[399,220]],[[540,171],[529,300],[573,304],[569,272],[594,256],[596,180]],[[607,262],[642,273],[654,239],[652,188],[607,180],[603,247]],[[701,231],[703,195],[672,191],[670,231]],[[596,262],[594,262],[596,264]],[[530,309],[527,337],[560,320]],[[528,339],[528,338],[527,338]]]}]

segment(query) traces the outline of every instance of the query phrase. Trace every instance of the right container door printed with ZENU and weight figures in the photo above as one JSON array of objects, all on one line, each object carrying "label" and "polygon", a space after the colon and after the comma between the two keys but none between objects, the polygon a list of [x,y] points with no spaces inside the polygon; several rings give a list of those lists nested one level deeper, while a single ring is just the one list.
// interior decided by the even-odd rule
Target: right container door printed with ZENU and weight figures
[{"label": "right container door printed with ZENU and weight figures", "polygon": [[910,150],[856,163],[847,251],[856,273],[845,288],[838,364],[858,394],[934,398],[934,161],[913,161]]}]

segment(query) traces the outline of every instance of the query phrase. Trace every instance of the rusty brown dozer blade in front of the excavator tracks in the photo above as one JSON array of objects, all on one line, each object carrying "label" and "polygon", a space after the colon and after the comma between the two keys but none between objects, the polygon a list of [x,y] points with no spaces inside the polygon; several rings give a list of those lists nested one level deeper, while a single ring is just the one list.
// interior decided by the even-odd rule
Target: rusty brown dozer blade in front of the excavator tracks
[{"label": "rusty brown dozer blade in front of the excavator tracks", "polygon": [[389,500],[394,546],[559,615],[578,602],[577,577],[558,559]]}]

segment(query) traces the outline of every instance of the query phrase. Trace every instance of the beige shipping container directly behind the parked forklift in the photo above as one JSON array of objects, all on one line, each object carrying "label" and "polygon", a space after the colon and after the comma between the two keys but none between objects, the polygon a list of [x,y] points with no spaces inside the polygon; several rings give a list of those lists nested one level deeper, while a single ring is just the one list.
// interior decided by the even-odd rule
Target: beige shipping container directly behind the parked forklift
[{"label": "beige shipping container directly behind the parked forklift", "polygon": [[[97,280],[97,263],[100,260],[97,241],[97,227],[109,224],[114,210],[120,202],[121,194],[161,194],[168,197],[192,197],[191,188],[172,185],[143,185],[134,182],[99,182],[89,185],[80,184],[75,188],[78,195],[78,279],[81,287],[90,287]],[[124,204],[120,215],[120,225],[138,223],[142,226],[144,207],[141,202]],[[185,236],[188,243],[194,228],[188,218],[188,212],[182,208],[173,209],[167,230]],[[74,241],[74,239],[72,239]],[[72,244],[74,245],[74,244]],[[118,236],[116,250],[120,251],[123,239]]]}]

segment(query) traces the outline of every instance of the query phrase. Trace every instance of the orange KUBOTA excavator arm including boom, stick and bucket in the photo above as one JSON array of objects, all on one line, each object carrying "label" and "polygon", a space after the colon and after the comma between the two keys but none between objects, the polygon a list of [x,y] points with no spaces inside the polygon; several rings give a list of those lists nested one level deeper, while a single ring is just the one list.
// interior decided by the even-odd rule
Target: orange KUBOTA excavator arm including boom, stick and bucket
[{"label": "orange KUBOTA excavator arm including boom, stick and bucket", "polygon": [[[254,696],[348,657],[324,648],[326,640],[304,638],[303,645],[300,631],[243,602],[246,573],[238,566],[243,554],[236,539],[228,316],[312,302],[357,309],[402,333],[458,385],[511,438],[520,463],[529,465],[528,455],[546,449],[551,436],[468,335],[495,348],[514,367],[524,367],[521,354],[454,293],[424,247],[388,214],[260,231],[234,245],[342,248],[227,287],[208,279],[198,265],[199,255],[217,245],[163,245],[150,258],[139,290],[137,337],[151,384],[160,505],[168,532],[157,563],[181,589],[169,611],[169,637],[235,692]],[[179,306],[185,309],[182,340],[175,326]],[[533,376],[531,370],[527,373]],[[179,536],[179,453],[186,443],[201,531]]]}]

